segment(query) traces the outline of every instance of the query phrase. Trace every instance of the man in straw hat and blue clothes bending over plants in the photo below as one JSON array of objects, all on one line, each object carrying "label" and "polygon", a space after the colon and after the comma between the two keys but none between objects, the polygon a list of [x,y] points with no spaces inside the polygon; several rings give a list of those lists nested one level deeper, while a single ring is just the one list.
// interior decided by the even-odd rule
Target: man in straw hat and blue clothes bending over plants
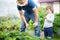
[{"label": "man in straw hat and blue clothes bending over plants", "polygon": [[[29,20],[32,19],[35,27],[35,36],[39,37],[40,23],[38,20],[38,10],[36,4],[32,0],[17,0],[17,8],[22,19],[20,31],[25,32],[25,29],[29,27]],[[24,14],[22,10],[24,10]]]}]

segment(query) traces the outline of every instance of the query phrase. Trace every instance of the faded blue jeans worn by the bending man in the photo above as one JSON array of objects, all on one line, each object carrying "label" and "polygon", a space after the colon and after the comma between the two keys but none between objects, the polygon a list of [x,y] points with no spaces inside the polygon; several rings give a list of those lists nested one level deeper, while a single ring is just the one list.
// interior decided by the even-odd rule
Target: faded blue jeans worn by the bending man
[{"label": "faded blue jeans worn by the bending man", "polygon": [[[25,13],[24,16],[26,18],[27,23],[30,21],[30,19],[32,19],[32,21],[35,22],[34,13],[31,13],[31,14]],[[26,29],[26,25],[24,22],[22,22],[20,26],[20,32],[25,32],[25,29]],[[39,20],[38,20],[38,26],[34,29],[34,33],[35,33],[35,36],[38,36],[38,37],[40,36],[40,21]]]}]

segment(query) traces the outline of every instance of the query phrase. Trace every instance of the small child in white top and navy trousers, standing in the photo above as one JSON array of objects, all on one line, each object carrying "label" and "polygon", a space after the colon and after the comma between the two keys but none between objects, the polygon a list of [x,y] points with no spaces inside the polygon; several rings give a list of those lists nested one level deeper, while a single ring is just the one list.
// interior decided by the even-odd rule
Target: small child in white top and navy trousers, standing
[{"label": "small child in white top and navy trousers, standing", "polygon": [[44,22],[44,36],[45,38],[51,39],[53,37],[53,21],[54,21],[54,14],[53,14],[53,7],[48,6],[46,7],[46,12],[48,13],[45,16]]}]

